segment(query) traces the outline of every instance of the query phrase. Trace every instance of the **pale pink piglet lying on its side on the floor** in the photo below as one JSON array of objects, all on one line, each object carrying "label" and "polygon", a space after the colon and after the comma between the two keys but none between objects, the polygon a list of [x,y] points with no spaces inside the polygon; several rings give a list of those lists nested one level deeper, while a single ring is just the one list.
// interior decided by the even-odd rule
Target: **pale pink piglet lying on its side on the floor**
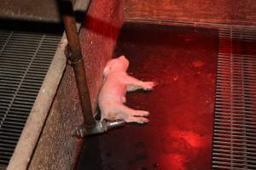
[{"label": "pale pink piglet lying on its side on the floor", "polygon": [[128,59],[120,56],[108,61],[103,71],[104,82],[99,94],[99,108],[102,112],[102,120],[123,120],[125,122],[148,122],[148,111],[137,111],[124,105],[127,92],[143,88],[151,90],[155,82],[143,82],[129,76],[126,71],[129,66]]}]

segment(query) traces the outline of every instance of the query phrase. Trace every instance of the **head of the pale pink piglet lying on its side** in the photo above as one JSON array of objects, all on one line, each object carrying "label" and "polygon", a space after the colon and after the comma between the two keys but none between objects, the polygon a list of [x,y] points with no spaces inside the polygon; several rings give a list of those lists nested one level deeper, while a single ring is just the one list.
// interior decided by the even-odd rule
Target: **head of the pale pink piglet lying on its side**
[{"label": "head of the pale pink piglet lying on its side", "polygon": [[121,55],[117,59],[111,59],[108,61],[106,67],[104,68],[103,76],[107,77],[108,74],[112,72],[125,72],[127,71],[128,66],[128,59],[126,59],[124,55]]}]

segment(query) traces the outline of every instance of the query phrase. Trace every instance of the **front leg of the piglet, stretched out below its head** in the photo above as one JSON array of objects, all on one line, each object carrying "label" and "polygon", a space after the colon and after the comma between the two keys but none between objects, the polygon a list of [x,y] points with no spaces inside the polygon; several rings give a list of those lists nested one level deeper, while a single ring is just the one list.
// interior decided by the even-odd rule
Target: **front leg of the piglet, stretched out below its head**
[{"label": "front leg of the piglet, stretched out below its head", "polygon": [[126,90],[128,92],[135,91],[137,89],[152,90],[157,85],[156,82],[143,82],[137,78],[127,76],[125,78]]}]

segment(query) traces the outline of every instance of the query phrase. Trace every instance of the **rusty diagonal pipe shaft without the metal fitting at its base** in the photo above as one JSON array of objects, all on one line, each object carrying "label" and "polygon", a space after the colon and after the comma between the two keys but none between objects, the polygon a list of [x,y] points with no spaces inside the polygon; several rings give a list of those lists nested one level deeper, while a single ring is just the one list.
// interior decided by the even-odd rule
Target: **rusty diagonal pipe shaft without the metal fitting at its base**
[{"label": "rusty diagonal pipe shaft without the metal fitting at its base", "polygon": [[73,71],[79,90],[80,105],[84,117],[85,127],[95,127],[96,121],[93,116],[90,103],[89,88],[86,82],[86,73],[84,70],[84,58],[79,43],[79,34],[76,27],[73,5],[70,1],[61,0],[61,17],[65,26],[67,35],[67,55],[70,64],[73,65]]}]

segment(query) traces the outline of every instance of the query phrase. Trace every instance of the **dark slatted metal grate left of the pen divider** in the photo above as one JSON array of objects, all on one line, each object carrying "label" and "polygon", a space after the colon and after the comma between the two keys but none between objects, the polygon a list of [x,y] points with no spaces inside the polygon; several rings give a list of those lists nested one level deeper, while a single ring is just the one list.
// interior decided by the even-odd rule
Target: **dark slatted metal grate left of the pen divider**
[{"label": "dark slatted metal grate left of the pen divider", "polygon": [[9,164],[60,39],[0,30],[0,169]]}]

